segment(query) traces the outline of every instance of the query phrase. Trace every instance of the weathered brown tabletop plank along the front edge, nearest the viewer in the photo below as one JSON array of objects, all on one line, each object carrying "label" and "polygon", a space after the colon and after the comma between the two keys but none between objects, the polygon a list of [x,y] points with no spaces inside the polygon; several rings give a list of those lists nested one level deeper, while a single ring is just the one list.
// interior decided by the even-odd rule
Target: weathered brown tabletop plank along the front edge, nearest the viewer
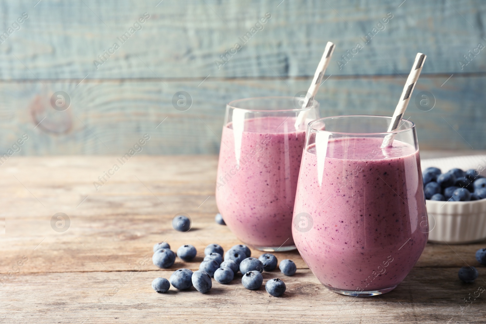
[{"label": "weathered brown tabletop plank along the front edge, nearest the viewer", "polygon": [[[455,269],[414,268],[393,291],[356,298],[327,290],[309,270],[285,277],[272,297],[246,290],[239,279],[213,282],[201,294],[150,287],[170,271],[17,274],[0,290],[0,318],[15,323],[484,323],[486,299],[468,298],[484,283],[461,284]],[[480,275],[485,275],[480,269]],[[263,273],[264,282],[275,277]],[[241,277],[241,275],[239,275]],[[469,305],[469,307],[467,307]],[[461,309],[461,307],[467,307]],[[25,311],[29,309],[29,311]]]}]

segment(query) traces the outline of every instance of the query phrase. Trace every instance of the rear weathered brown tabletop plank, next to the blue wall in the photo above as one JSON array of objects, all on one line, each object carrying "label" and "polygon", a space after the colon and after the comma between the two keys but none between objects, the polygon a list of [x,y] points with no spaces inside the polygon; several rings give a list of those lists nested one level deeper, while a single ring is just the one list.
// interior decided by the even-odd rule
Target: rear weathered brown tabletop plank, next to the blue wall
[{"label": "rear weathered brown tabletop plank, next to the blue wall", "polygon": [[[194,245],[194,262],[177,259],[173,269],[197,270],[206,245],[219,243],[227,250],[241,243],[226,226],[214,222],[215,156],[134,156],[96,191],[93,181],[114,160],[19,157],[15,166],[0,168],[5,188],[0,191],[1,215],[6,219],[0,273],[10,271],[24,255],[29,261],[22,273],[129,271],[140,258],[151,257],[152,246],[164,239],[174,251],[183,244]],[[51,224],[58,212],[70,219],[61,233]],[[178,212],[191,216],[191,231],[174,231],[171,220]],[[428,244],[417,267],[480,267],[474,253],[485,244]],[[296,251],[276,255],[307,268]],[[144,268],[156,269],[151,262]]]}]

